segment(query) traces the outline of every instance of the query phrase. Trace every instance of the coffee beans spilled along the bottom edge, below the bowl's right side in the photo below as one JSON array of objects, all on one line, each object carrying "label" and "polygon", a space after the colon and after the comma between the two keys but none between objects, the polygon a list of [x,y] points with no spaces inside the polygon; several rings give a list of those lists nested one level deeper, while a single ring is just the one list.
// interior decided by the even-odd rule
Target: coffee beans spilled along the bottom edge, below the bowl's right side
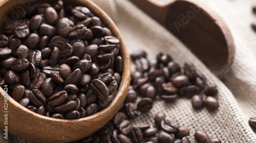
[{"label": "coffee beans spilled along the bottom edge, below the bowl's right side", "polygon": [[166,117],[164,113],[155,116],[154,127],[148,124],[134,127],[126,115],[128,114],[118,112],[112,121],[99,131],[73,143],[221,143],[219,138],[209,138],[202,130],[195,132],[194,139],[190,136],[188,128],[180,127],[175,119]]}]

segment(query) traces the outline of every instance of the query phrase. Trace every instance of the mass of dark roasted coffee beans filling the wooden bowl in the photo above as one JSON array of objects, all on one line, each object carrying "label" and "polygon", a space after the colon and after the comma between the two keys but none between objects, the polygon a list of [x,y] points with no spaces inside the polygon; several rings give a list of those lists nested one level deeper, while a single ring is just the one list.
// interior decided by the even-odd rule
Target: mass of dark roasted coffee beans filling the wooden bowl
[{"label": "mass of dark roasted coffee beans filling the wooden bowl", "polygon": [[31,4],[4,31],[0,85],[21,105],[78,119],[113,101],[122,74],[119,40],[87,7]]}]

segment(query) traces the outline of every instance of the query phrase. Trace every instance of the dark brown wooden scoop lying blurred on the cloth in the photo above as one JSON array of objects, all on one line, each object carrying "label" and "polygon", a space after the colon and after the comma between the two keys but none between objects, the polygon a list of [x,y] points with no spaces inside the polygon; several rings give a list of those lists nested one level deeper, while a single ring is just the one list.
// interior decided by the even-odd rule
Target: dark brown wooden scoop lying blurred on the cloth
[{"label": "dark brown wooden scoop lying blurred on the cloth", "polygon": [[130,0],[177,36],[221,78],[232,64],[235,46],[225,22],[211,9],[177,0]]}]

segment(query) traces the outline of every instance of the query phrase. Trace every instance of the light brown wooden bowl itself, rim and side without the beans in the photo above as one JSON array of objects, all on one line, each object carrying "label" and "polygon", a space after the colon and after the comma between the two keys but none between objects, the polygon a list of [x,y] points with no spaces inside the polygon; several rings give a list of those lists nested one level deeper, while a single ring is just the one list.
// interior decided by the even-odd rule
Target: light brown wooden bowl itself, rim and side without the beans
[{"label": "light brown wooden bowl itself, rim and side without the beans", "polygon": [[[22,1],[0,1],[0,27],[4,26],[4,17],[10,14],[12,8],[19,6],[20,2]],[[53,1],[48,0],[37,2],[52,3]],[[111,18],[91,1],[63,0],[63,2],[65,5],[88,7],[95,15],[101,18],[105,26],[108,27],[112,31],[113,35],[120,40],[120,52],[123,59],[122,79],[116,97],[108,107],[92,116],[76,120],[62,120],[41,116],[20,105],[10,96],[8,96],[8,110],[4,110],[5,91],[0,88],[0,127],[2,129],[6,129],[5,126],[8,126],[8,133],[30,141],[68,142],[81,139],[94,133],[108,123],[117,113],[125,99],[125,95],[130,84],[130,56],[124,45],[124,41],[119,30]],[[6,118],[3,116],[3,113],[8,113],[8,125],[4,125]]]}]

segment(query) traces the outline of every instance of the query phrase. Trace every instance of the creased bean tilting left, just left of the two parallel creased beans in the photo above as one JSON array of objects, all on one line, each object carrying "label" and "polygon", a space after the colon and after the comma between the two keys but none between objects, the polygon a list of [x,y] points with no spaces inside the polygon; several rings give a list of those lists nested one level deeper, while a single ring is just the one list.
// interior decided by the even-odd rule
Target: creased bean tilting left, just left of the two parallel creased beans
[{"label": "creased bean tilting left, just left of the two parallel creased beans", "polygon": [[47,100],[45,95],[37,89],[30,92],[29,99],[36,107],[44,106]]}]

